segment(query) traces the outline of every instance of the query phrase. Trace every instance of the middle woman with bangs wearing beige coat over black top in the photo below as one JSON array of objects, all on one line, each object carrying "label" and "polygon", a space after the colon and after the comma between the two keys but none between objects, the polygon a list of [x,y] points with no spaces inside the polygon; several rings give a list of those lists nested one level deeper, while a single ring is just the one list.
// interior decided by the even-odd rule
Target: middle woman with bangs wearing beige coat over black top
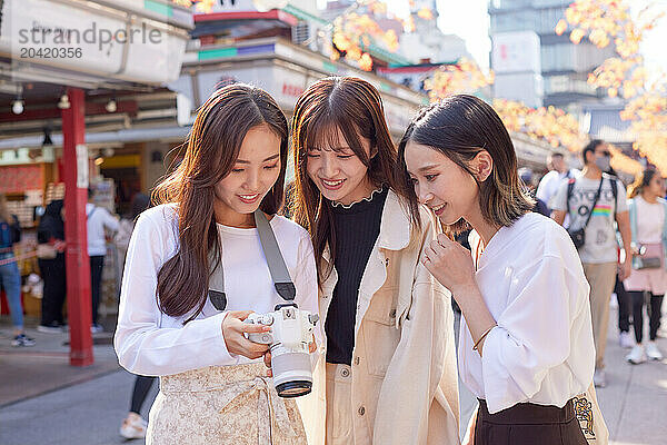
[{"label": "middle woman with bangs wearing beige coat over black top", "polygon": [[458,444],[450,294],[419,263],[436,224],[417,205],[410,216],[397,188],[379,92],[322,79],[297,100],[292,128],[292,211],[319,260],[326,330],[312,397],[326,398],[326,418],[307,427],[328,445]]}]

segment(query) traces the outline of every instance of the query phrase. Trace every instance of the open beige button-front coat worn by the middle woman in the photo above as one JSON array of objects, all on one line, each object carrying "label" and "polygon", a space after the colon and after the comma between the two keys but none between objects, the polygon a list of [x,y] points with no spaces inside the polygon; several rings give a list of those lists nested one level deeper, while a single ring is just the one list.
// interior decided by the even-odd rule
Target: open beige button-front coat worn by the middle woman
[{"label": "open beige button-front coat worn by the middle woman", "polygon": [[[355,445],[459,443],[451,295],[420,263],[437,235],[426,209],[421,221],[421,231],[411,233],[410,217],[389,190],[359,287],[351,364]],[[321,326],[337,279],[332,270],[322,284]],[[320,352],[313,390],[298,400],[311,445],[325,442],[326,338]]]}]

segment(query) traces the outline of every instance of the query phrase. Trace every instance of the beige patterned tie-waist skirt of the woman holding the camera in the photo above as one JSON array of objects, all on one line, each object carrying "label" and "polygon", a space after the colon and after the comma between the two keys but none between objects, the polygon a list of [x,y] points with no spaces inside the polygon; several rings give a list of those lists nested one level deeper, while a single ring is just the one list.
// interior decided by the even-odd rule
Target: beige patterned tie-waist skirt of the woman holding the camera
[{"label": "beige patterned tie-waist skirt of the woman holding the camera", "polygon": [[293,399],[263,363],[210,366],[160,377],[147,445],[307,445]]}]

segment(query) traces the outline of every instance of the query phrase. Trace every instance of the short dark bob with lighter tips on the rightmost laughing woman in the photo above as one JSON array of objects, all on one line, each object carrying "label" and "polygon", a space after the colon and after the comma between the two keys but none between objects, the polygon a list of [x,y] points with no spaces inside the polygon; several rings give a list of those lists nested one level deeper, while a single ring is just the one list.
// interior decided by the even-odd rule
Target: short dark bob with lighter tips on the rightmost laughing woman
[{"label": "short dark bob with lighter tips on the rightmost laughing woman", "polygon": [[[398,175],[404,191],[417,202],[415,188],[406,167],[406,145],[409,141],[430,147],[447,156],[475,180],[468,162],[481,150],[494,159],[491,176],[479,186],[479,206],[487,222],[511,226],[535,206],[517,174],[517,156],[502,121],[484,100],[469,95],[451,96],[422,109],[412,119],[399,146]],[[468,224],[459,220],[449,229],[454,233]]]}]

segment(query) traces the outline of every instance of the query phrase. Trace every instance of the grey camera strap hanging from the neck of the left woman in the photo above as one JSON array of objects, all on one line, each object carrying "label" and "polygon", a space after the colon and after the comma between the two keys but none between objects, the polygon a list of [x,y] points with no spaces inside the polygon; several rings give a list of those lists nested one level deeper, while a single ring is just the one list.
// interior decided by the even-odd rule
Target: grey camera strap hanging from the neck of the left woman
[{"label": "grey camera strap hanging from the neck of the left woman", "polygon": [[[276,286],[276,291],[282,299],[291,301],[297,295],[297,289],[291,280],[287,265],[285,264],[285,258],[282,258],[282,254],[280,253],[280,247],[276,240],[273,229],[266,215],[260,209],[255,211],[255,225],[259,233],[259,241],[267,259],[273,286]],[[211,258],[209,258],[209,264],[213,264]],[[227,294],[225,293],[225,274],[222,271],[221,260],[218,261],[217,267],[209,277],[208,295],[216,309],[225,310],[227,307]]]}]

